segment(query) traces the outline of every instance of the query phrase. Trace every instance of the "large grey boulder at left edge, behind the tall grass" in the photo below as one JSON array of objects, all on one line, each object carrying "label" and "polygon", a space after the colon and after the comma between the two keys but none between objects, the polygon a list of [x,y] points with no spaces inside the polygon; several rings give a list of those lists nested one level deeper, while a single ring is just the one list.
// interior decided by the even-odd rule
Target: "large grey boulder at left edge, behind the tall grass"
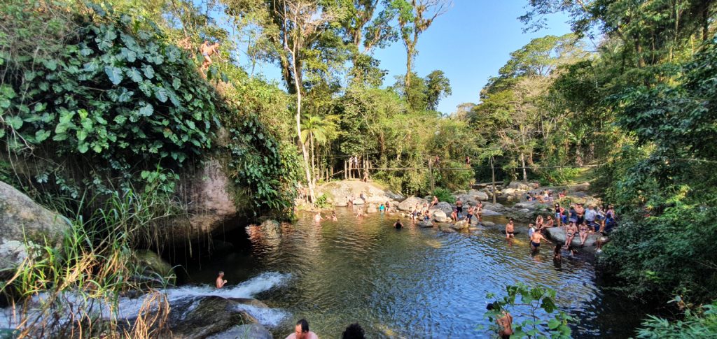
[{"label": "large grey boulder at left edge, behind the tall grass", "polygon": [[42,246],[60,247],[70,221],[0,182],[0,278]]}]

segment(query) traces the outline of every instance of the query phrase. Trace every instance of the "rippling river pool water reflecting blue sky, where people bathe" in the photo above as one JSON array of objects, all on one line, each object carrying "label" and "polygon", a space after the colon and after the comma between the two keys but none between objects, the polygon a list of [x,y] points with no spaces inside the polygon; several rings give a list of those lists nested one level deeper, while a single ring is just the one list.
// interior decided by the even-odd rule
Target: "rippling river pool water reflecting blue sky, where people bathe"
[{"label": "rippling river pool water reflecting blue sky, where people bathe", "polygon": [[486,295],[518,282],[557,290],[559,308],[578,320],[575,338],[627,338],[643,316],[601,290],[590,254],[564,252],[556,264],[548,245],[531,255],[525,234],[509,244],[496,230],[443,233],[406,221],[395,230],[396,215],[337,214],[336,222],[306,214],[291,225],[247,227],[250,250],[190,265],[185,288],[224,270],[222,294],[267,303],[271,312],[259,318],[275,338],[300,318],[321,338],[340,338],[355,322],[369,338],[488,338]]}]

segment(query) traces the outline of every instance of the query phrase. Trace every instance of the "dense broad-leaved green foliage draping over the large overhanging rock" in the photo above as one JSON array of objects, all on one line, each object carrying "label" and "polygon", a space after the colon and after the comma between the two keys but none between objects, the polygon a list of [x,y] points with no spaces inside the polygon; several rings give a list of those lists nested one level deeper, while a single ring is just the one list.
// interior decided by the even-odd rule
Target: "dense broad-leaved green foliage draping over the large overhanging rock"
[{"label": "dense broad-leaved green foliage draping over the large overhanging rock", "polygon": [[[0,139],[7,162],[32,164],[12,166],[16,185],[75,198],[137,184],[174,192],[181,168],[224,152],[253,207],[288,207],[290,190],[280,190],[293,185],[295,157],[257,118],[265,107],[224,99],[196,72],[194,54],[148,19],[94,4],[90,14],[34,6],[7,6],[17,25],[0,36]],[[248,92],[241,89],[224,94]],[[229,136],[217,145],[219,129]]]}]

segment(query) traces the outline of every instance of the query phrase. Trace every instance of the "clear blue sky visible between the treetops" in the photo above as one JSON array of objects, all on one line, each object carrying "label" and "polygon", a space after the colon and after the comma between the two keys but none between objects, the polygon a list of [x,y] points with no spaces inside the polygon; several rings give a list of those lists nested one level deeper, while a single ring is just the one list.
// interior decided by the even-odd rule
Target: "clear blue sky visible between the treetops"
[{"label": "clear blue sky visible between the treetops", "polygon": [[[414,71],[425,77],[434,69],[445,72],[453,94],[442,99],[439,111],[451,113],[463,102],[478,103],[480,89],[488,77],[508,61],[511,51],[533,38],[570,32],[562,14],[549,17],[549,29],[523,33],[518,16],[526,13],[527,0],[454,0],[453,7],[419,36]],[[374,51],[381,69],[389,74],[384,86],[394,84],[395,76],[406,74],[406,50],[402,41]],[[262,65],[257,71],[268,79],[280,79],[274,65]],[[281,83],[281,82],[280,82]]]}]

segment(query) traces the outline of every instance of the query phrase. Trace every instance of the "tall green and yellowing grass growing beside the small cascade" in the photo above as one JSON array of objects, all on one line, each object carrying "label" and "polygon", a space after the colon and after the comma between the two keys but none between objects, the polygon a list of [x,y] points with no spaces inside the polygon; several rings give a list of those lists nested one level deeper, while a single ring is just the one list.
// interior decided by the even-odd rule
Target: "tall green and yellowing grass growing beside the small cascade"
[{"label": "tall green and yellowing grass growing beside the small cascade", "polygon": [[[27,258],[0,282],[18,338],[151,338],[163,328],[168,300],[155,288],[173,277],[146,277],[132,249],[157,236],[149,226],[171,215],[170,200],[131,190],[103,199],[89,217],[76,213],[59,248],[27,242]],[[75,210],[88,203],[97,202],[80,200]],[[136,290],[150,297],[128,322],[118,302]]]}]

